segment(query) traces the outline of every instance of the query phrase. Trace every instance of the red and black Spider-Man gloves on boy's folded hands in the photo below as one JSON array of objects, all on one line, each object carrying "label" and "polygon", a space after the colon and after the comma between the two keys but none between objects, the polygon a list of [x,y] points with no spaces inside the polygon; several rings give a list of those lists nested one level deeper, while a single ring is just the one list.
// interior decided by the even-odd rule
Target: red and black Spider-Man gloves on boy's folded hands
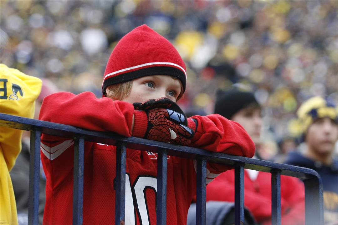
[{"label": "red and black Spider-Man gloves on boy's folded hands", "polygon": [[194,131],[187,126],[187,118],[176,103],[161,98],[133,105],[136,110],[132,136],[180,145],[190,144]]}]

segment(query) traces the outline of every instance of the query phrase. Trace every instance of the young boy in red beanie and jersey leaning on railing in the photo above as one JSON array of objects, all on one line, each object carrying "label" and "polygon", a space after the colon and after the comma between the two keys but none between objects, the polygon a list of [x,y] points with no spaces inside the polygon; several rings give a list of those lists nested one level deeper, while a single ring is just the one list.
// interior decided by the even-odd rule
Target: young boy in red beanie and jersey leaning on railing
[{"label": "young boy in red beanie and jersey leaning on railing", "polygon": [[[186,119],[182,112],[168,110],[180,111],[175,102],[185,91],[186,78],[185,64],[172,44],[142,25],[114,48],[101,99],[91,92],[52,94],[44,99],[40,119],[252,157],[254,143],[238,123],[219,115]],[[135,104],[139,109],[135,110],[132,103],[144,101]],[[73,140],[42,135],[47,178],[44,224],[72,223],[73,149]],[[84,224],[114,222],[115,152],[115,146],[85,142]],[[156,222],[156,159],[156,154],[127,149],[125,224]],[[224,171],[221,165],[207,166],[207,182]],[[185,224],[196,194],[194,161],[168,156],[167,171],[167,223]]]}]

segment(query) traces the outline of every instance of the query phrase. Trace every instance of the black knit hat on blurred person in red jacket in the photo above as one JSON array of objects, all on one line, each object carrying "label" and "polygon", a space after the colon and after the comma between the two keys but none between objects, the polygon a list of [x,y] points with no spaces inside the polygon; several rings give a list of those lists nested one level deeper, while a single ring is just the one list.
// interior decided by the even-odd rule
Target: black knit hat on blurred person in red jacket
[{"label": "black knit hat on blurred person in red jacket", "polygon": [[229,91],[217,91],[215,113],[231,119],[241,109],[258,104],[254,94],[247,91],[240,91],[237,88]]}]

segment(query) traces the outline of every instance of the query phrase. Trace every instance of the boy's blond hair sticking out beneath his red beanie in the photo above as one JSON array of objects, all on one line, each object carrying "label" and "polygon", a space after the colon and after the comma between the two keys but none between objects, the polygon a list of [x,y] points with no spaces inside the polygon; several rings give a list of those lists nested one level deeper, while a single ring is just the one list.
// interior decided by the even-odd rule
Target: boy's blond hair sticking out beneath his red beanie
[{"label": "boy's blond hair sticking out beneath his red beanie", "polygon": [[[105,96],[113,100],[122,100],[130,94],[131,87],[132,87],[132,81],[110,85],[106,88]],[[183,96],[183,87],[181,85],[181,92],[177,96],[176,102],[182,96]]]}]

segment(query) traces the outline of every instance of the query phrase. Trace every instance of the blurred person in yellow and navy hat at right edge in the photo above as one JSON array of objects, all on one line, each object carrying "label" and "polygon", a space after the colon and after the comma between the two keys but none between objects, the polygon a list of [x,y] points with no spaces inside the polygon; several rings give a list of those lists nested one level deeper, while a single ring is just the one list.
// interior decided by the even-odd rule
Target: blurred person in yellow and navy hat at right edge
[{"label": "blurred person in yellow and navy hat at right edge", "polygon": [[315,96],[297,111],[305,145],[300,152],[290,152],[285,163],[317,171],[323,182],[324,222],[338,224],[338,161],[333,159],[338,140],[337,103]]}]

